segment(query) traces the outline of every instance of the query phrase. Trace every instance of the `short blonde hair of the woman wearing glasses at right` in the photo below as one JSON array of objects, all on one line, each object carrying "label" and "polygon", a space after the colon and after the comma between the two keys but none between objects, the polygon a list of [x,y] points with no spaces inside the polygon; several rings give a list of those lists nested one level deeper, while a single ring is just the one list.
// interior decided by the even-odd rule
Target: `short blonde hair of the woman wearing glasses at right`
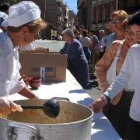
[{"label": "short blonde hair of the woman wearing glasses at right", "polygon": [[129,17],[129,15],[127,14],[127,12],[125,12],[124,10],[116,10],[116,11],[112,12],[111,13],[111,19],[114,16],[118,16],[119,19],[121,19],[121,20],[128,19],[128,17]]}]

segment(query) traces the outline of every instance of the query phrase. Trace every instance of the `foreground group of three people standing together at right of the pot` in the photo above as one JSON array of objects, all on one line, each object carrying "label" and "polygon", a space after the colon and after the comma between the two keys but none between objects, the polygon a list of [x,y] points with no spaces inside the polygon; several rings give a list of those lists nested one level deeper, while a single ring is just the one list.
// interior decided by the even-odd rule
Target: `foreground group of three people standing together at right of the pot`
[{"label": "foreground group of three people standing together at right of the pot", "polygon": [[116,11],[111,14],[115,41],[95,67],[103,95],[91,108],[95,113],[102,109],[122,139],[138,140],[140,11],[130,16],[126,12],[119,16],[119,12],[118,15],[114,15]]}]

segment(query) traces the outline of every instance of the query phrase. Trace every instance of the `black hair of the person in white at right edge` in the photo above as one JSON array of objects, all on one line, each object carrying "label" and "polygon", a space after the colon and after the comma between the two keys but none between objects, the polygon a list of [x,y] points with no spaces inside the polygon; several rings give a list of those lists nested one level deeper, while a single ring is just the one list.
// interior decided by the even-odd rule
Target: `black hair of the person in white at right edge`
[{"label": "black hair of the person in white at right edge", "polygon": [[132,14],[128,19],[128,25],[138,25],[140,26],[140,11],[137,11],[136,13]]}]

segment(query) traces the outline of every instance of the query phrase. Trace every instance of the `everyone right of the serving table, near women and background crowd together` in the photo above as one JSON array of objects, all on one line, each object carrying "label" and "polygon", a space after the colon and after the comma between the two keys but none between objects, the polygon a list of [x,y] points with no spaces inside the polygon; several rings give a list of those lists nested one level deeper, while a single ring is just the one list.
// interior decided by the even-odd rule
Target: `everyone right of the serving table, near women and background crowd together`
[{"label": "everyone right of the serving table, near women and background crowd together", "polygon": [[[140,139],[139,19],[140,12],[128,15],[124,10],[114,11],[107,27],[99,30],[99,38],[94,30],[87,31],[83,25],[74,31],[66,29],[63,34],[66,44],[61,50],[68,55],[70,71],[83,87],[86,87],[83,81],[89,85],[89,65],[95,69],[103,95],[91,108],[95,113],[102,109],[124,140]],[[70,42],[68,32],[73,38]]]}]

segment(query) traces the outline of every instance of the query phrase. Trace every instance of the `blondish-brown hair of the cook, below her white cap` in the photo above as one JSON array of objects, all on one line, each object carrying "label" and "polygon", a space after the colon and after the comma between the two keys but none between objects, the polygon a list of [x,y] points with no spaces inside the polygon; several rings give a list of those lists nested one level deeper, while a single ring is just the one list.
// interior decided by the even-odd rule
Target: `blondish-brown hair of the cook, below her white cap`
[{"label": "blondish-brown hair of the cook, below her white cap", "polygon": [[46,26],[47,26],[47,23],[45,23],[41,18],[39,18],[19,27],[8,26],[7,31],[19,32],[23,27],[28,27],[30,32],[35,32],[35,31],[46,28]]}]

